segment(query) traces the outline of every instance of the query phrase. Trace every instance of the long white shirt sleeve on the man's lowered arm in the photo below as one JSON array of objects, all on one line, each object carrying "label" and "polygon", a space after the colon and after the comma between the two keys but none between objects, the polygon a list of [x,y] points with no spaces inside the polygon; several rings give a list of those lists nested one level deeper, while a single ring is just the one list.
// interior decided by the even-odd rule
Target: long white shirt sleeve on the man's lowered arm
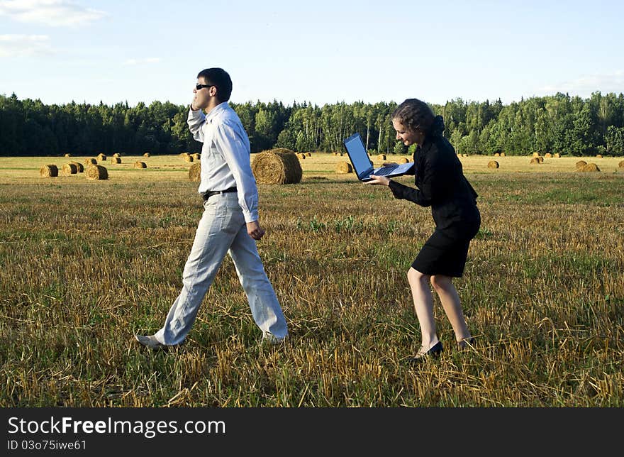
[{"label": "long white shirt sleeve on the man's lowered arm", "polygon": [[249,143],[243,132],[238,126],[224,122],[215,129],[213,141],[223,151],[223,158],[236,182],[238,204],[243,209],[245,222],[257,221],[258,189],[251,170]]}]

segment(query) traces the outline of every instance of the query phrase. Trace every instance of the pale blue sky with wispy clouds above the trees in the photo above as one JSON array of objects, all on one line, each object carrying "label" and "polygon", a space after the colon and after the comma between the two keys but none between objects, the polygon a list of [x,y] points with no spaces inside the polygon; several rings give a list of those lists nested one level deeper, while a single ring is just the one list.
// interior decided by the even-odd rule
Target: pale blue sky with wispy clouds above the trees
[{"label": "pale blue sky with wispy clouds above the trees", "polygon": [[0,94],[186,105],[209,67],[235,103],[620,94],[623,17],[621,0],[0,0]]}]

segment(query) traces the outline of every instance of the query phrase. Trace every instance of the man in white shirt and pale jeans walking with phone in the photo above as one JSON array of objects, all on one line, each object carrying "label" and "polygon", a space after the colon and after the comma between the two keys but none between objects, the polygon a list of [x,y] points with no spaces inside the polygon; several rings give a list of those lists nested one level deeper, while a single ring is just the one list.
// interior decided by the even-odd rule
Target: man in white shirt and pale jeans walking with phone
[{"label": "man in white shirt and pale jeans walking with phone", "polygon": [[135,338],[150,348],[182,343],[225,253],[229,253],[263,341],[278,343],[286,338],[288,329],[256,248],[255,240],[262,238],[264,229],[258,221],[249,138],[228,105],[232,80],[221,68],[208,68],[197,75],[193,92],[187,122],[194,138],[204,143],[198,189],[204,197],[204,214],[184,265],[182,291],[169,309],[165,325],[154,335]]}]

